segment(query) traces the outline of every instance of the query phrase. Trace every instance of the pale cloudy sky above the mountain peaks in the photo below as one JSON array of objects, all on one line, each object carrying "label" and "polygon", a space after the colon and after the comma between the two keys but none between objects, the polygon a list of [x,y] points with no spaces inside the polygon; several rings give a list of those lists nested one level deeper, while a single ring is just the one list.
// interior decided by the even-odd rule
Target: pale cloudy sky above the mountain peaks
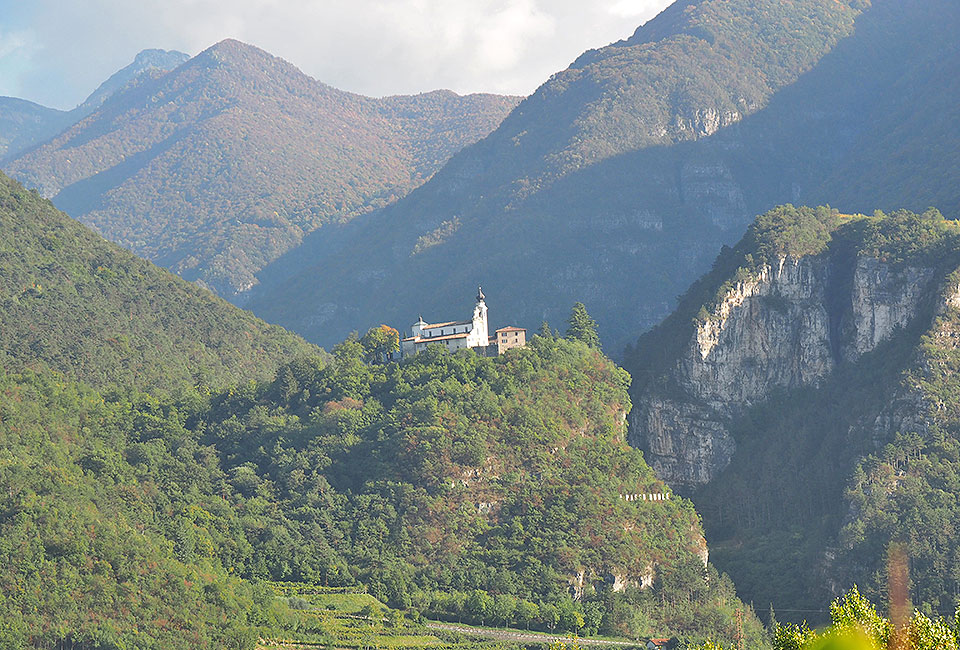
[{"label": "pale cloudy sky above the mountain peaks", "polygon": [[371,96],[528,95],[670,0],[0,0],[0,96],[69,109],[133,60],[225,38]]}]

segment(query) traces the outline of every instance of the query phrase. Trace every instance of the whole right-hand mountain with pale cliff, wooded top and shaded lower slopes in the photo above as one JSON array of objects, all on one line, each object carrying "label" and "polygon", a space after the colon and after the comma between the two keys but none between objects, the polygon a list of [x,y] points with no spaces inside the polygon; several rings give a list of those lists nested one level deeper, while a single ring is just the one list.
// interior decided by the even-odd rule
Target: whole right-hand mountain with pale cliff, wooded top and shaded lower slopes
[{"label": "whole right-hand mountain with pale cliff, wooded top and shaded lower slopes", "polygon": [[631,440],[754,602],[881,596],[902,541],[914,604],[952,609],[958,268],[935,211],[779,208],[631,353]]}]

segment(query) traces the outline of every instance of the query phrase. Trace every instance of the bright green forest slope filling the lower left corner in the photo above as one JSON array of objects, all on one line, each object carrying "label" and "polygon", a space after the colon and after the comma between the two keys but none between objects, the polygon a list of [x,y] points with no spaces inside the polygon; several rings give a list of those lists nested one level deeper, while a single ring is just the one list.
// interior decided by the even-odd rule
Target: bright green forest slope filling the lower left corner
[{"label": "bright green forest slope filling the lower left corner", "polygon": [[0,395],[0,647],[252,648],[280,620],[218,557],[235,510],[185,413],[32,372]]}]

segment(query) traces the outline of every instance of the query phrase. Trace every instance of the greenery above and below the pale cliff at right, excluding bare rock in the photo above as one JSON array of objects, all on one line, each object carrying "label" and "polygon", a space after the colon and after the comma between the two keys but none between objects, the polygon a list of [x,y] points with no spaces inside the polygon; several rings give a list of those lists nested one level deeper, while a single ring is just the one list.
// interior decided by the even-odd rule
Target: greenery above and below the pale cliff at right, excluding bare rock
[{"label": "greenery above and below the pale cliff at right, excluding bare rock", "polygon": [[[882,598],[886,549],[902,542],[914,604],[951,616],[960,594],[956,222],[935,210],[849,217],[785,206],[761,216],[631,350],[634,398],[687,395],[670,368],[698,323],[715,317],[736,282],[782,256],[814,256],[832,269],[852,268],[859,257],[925,268],[933,288],[909,324],[873,351],[838,362],[818,385],[774,390],[730,421],[732,462],[692,495],[712,557],[758,606],[817,609],[853,583]],[[834,277],[833,300],[850,300],[847,275]],[[764,300],[776,308],[786,299]]]}]

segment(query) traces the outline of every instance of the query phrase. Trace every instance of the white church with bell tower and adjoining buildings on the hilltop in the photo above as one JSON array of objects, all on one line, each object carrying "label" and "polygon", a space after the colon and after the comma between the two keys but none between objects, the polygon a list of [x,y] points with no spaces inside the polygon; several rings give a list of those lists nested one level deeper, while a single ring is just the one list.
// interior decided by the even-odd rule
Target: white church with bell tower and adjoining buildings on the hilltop
[{"label": "white church with bell tower and adjoining buildings on the hilltop", "polygon": [[413,336],[401,341],[401,354],[413,356],[428,345],[442,345],[451,352],[474,348],[481,354],[503,354],[506,350],[526,345],[527,330],[521,327],[503,327],[490,336],[487,322],[487,303],[483,289],[477,288],[477,304],[471,320],[426,323],[421,316],[413,324]]}]

